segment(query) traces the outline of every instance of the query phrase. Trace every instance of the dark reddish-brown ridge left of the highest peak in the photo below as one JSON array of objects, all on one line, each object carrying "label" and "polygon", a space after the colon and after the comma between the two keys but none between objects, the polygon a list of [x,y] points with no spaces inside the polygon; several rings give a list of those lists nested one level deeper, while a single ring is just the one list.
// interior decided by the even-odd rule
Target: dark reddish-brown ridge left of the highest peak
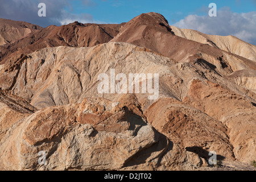
[{"label": "dark reddish-brown ridge left of the highest peak", "polygon": [[122,26],[123,24],[82,24],[79,22],[60,27],[49,26],[13,44],[0,47],[0,64],[15,56],[27,55],[45,47],[90,47],[106,43],[119,33]]}]

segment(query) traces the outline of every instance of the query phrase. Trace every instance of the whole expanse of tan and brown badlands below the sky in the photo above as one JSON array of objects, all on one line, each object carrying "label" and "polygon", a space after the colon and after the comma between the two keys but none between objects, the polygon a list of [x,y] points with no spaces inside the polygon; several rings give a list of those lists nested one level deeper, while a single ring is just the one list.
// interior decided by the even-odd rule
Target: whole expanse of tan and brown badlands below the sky
[{"label": "whole expanse of tan and brown badlands below the sky", "polygon": [[[99,93],[110,69],[159,73],[159,97]],[[46,28],[0,19],[0,170],[255,170],[255,118],[256,46],[234,36],[157,13]]]}]

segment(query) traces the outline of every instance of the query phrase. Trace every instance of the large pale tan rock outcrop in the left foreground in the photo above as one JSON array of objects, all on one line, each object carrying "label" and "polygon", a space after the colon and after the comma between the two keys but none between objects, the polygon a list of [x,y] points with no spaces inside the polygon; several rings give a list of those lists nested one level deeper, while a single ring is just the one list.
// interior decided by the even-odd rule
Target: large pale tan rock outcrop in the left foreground
[{"label": "large pale tan rock outcrop in the left foreground", "polygon": [[[90,117],[81,117],[88,110]],[[2,142],[1,169],[117,170],[139,163],[156,168],[167,151],[174,155],[168,139],[142,117],[102,98],[49,107],[22,120]],[[38,164],[40,151],[47,154],[45,165]]]}]

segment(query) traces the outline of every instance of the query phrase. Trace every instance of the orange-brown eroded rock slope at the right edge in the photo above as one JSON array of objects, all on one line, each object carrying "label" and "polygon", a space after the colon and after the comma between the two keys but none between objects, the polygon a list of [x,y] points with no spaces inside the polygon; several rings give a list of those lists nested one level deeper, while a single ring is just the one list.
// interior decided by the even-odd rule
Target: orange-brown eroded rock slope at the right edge
[{"label": "orange-brown eroded rock slope at the right edge", "polygon": [[236,159],[246,163],[254,160],[256,157],[254,119],[256,109],[250,100],[218,84],[212,82],[205,84],[194,80],[183,102],[200,108],[204,113],[228,127],[229,140],[234,147]]}]

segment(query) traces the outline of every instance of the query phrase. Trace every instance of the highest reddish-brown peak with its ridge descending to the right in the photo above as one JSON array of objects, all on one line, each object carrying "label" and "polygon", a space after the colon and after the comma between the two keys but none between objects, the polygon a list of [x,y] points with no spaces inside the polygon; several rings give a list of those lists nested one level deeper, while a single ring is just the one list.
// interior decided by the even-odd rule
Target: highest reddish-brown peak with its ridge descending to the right
[{"label": "highest reddish-brown peak with its ridge descending to the right", "polygon": [[207,44],[175,36],[167,20],[160,14],[142,14],[126,23],[112,42],[127,42],[151,49],[179,62],[207,60],[220,75],[230,75],[241,69],[255,69],[255,61],[222,51]]}]

